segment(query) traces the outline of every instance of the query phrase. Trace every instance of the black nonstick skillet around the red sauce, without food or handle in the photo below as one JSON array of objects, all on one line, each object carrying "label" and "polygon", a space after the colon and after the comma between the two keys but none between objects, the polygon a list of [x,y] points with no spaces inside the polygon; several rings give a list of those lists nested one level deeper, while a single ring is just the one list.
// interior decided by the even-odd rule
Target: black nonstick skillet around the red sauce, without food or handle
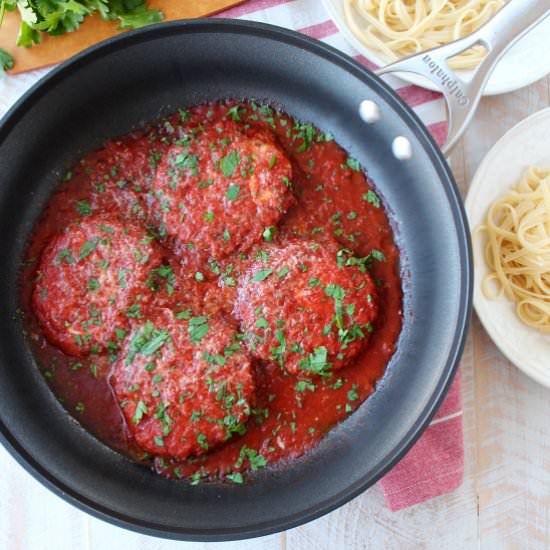
[{"label": "black nonstick skillet around the red sauce, without food or handle", "polygon": [[[60,174],[106,138],[178,107],[253,97],[330,131],[361,161],[402,251],[399,348],[376,393],[312,452],[244,486],[165,480],[105,447],[56,401],[18,315],[25,243]],[[380,120],[366,124],[361,101]],[[392,152],[407,138],[412,158]],[[0,126],[0,431],[15,458],[58,495],[117,525],[185,540],[288,529],[375,483],[437,410],[471,306],[468,228],[453,177],[426,128],[371,72],[339,51],[268,25],[186,21],[110,39],[42,79]],[[368,519],[366,519],[368,521]]]}]

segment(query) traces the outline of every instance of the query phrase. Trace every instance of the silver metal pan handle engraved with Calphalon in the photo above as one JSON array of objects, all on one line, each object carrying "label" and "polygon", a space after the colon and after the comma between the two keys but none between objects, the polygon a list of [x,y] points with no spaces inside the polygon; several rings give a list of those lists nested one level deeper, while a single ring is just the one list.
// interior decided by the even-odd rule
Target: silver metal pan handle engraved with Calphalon
[{"label": "silver metal pan handle engraved with Calphalon", "polygon": [[[502,56],[548,15],[548,0],[511,0],[472,34],[386,65],[377,74],[414,73],[429,79],[441,90],[449,113],[449,133],[441,148],[447,154],[474,116],[485,85]],[[487,55],[471,80],[465,81],[449,68],[447,59],[476,44],[484,46]]]}]

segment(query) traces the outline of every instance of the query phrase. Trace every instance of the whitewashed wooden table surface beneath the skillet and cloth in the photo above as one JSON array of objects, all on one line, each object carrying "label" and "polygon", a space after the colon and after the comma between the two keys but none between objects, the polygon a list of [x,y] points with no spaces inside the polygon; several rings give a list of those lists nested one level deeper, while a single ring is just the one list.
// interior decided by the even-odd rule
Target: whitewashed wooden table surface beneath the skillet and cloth
[{"label": "whitewashed wooden table surface beneath the skillet and cloth", "polygon": [[[0,83],[0,116],[14,100],[10,84]],[[496,139],[547,106],[548,78],[482,101],[452,157],[463,192]],[[246,542],[179,543],[89,517],[49,493],[0,447],[0,549],[550,548],[550,390],[504,359],[475,316],[462,372],[466,473],[453,494],[392,513],[374,487],[339,510],[286,533]]]}]

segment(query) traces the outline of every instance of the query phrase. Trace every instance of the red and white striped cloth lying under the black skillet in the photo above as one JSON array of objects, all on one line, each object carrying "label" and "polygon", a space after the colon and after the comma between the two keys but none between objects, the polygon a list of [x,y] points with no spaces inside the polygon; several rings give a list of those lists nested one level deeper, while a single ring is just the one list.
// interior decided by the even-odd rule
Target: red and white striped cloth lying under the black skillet
[{"label": "red and white striped cloth lying under the black skillet", "polygon": [[[217,16],[294,29],[373,68],[346,42],[319,0],[249,0]],[[416,111],[436,141],[443,143],[447,122],[441,96],[394,77],[387,82]],[[380,481],[380,486],[388,507],[396,511],[456,489],[462,483],[463,471],[462,403],[457,376],[435,419],[405,458]]]}]

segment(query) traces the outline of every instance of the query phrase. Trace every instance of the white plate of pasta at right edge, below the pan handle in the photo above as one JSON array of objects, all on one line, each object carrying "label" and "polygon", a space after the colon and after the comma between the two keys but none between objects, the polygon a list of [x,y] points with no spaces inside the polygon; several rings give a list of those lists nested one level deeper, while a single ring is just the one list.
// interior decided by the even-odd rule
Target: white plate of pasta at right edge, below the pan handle
[{"label": "white plate of pasta at right edge, below the pan handle", "polygon": [[[544,109],[512,128],[481,163],[466,197],[466,212],[472,231],[483,222],[489,206],[532,165],[550,168],[550,109]],[[480,286],[488,273],[483,249],[483,236],[475,236],[476,312],[502,353],[525,374],[550,387],[550,335],[524,325],[510,300],[485,298]]]}]

